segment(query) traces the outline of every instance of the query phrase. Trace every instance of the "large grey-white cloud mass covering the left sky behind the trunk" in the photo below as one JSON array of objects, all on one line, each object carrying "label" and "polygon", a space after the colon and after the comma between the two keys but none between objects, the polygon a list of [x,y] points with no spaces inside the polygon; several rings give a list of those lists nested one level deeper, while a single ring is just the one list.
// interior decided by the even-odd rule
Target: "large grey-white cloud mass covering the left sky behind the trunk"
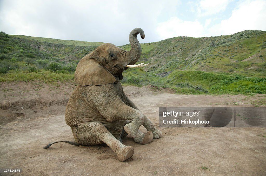
[{"label": "large grey-white cloud mass covering the left sky behind the trunk", "polygon": [[0,29],[7,34],[127,44],[134,28],[140,42],[159,40],[158,17],[174,14],[180,1],[9,1],[0,0]]}]

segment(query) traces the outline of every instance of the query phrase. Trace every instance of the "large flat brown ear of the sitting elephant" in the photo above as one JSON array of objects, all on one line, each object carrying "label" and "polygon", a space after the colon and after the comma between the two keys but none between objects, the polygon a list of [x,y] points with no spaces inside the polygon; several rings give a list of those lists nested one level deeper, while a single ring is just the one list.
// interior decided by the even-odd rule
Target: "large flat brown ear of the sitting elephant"
[{"label": "large flat brown ear of the sitting elephant", "polygon": [[115,77],[94,58],[84,57],[75,71],[75,83],[85,85],[105,85],[115,82]]}]

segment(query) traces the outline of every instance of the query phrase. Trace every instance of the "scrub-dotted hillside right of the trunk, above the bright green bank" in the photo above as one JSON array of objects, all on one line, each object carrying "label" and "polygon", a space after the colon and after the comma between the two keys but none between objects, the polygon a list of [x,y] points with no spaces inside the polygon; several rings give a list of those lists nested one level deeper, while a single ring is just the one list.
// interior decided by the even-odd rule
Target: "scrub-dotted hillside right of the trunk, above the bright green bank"
[{"label": "scrub-dotted hillside right of the trunk, above the bright green bank", "polygon": [[[130,45],[122,46],[130,49]],[[243,31],[218,37],[175,37],[142,44],[140,60],[149,62],[146,71],[162,73],[176,69],[266,75],[266,32]]]}]

